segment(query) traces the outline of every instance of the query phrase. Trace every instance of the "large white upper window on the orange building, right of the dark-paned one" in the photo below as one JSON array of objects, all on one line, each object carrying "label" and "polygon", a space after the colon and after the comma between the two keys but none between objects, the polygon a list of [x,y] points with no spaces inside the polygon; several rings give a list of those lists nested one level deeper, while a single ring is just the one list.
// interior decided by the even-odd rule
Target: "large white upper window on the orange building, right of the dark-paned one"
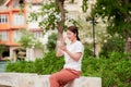
[{"label": "large white upper window on the orange building, right of the dark-paned one", "polygon": [[24,24],[24,15],[13,14],[13,25],[23,25]]}]

